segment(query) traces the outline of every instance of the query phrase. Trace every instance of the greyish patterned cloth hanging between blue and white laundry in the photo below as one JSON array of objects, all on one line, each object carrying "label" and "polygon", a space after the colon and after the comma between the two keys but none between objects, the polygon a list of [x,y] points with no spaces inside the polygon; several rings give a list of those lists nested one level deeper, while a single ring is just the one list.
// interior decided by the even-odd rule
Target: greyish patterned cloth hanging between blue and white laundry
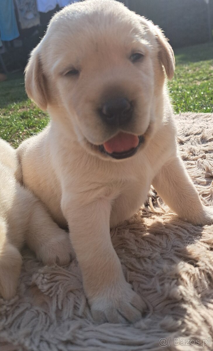
[{"label": "greyish patterned cloth hanging between blue and white laundry", "polygon": [[40,24],[36,0],[15,0],[21,29],[28,29]]}]

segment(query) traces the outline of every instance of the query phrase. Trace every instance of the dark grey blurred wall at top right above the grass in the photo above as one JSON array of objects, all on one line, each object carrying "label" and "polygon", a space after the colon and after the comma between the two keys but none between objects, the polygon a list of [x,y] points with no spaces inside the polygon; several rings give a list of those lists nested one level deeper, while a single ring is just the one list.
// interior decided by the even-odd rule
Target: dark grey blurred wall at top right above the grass
[{"label": "dark grey blurred wall at top right above the grass", "polygon": [[126,0],[132,11],[162,28],[173,48],[212,40],[213,0]]}]

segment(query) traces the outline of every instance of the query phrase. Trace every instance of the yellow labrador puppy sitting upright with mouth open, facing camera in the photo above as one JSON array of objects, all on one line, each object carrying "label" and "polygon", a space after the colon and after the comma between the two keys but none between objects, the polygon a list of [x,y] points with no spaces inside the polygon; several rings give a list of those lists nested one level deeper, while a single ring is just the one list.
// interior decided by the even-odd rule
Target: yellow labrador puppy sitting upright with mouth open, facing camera
[{"label": "yellow labrador puppy sitting upright with mouth open, facing camera", "polygon": [[160,29],[114,0],[57,13],[26,68],[27,93],[51,122],[18,148],[23,183],[58,224],[68,223],[100,321],[134,321],[144,309],[125,281],[110,227],[138,210],[151,184],[180,217],[213,220],[177,153],[165,86],[174,68]]}]

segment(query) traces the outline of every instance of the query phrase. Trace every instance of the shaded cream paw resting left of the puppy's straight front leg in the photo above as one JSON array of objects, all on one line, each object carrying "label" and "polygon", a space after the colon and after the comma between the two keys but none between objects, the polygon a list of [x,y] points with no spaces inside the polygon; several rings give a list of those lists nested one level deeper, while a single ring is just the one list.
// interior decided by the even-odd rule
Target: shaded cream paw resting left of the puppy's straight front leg
[{"label": "shaded cream paw resting left of the puppy's straight front leg", "polygon": [[68,233],[61,230],[60,234],[42,243],[36,250],[36,256],[44,265],[67,265],[75,257]]}]

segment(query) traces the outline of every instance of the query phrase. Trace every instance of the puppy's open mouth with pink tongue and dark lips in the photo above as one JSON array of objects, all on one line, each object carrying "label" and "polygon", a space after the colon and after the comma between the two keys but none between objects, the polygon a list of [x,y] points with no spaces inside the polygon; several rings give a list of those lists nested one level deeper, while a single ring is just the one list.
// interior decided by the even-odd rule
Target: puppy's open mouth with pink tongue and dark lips
[{"label": "puppy's open mouth with pink tongue and dark lips", "polygon": [[99,145],[99,151],[115,159],[124,159],[133,156],[140,144],[144,142],[144,136],[120,132],[115,137]]}]

